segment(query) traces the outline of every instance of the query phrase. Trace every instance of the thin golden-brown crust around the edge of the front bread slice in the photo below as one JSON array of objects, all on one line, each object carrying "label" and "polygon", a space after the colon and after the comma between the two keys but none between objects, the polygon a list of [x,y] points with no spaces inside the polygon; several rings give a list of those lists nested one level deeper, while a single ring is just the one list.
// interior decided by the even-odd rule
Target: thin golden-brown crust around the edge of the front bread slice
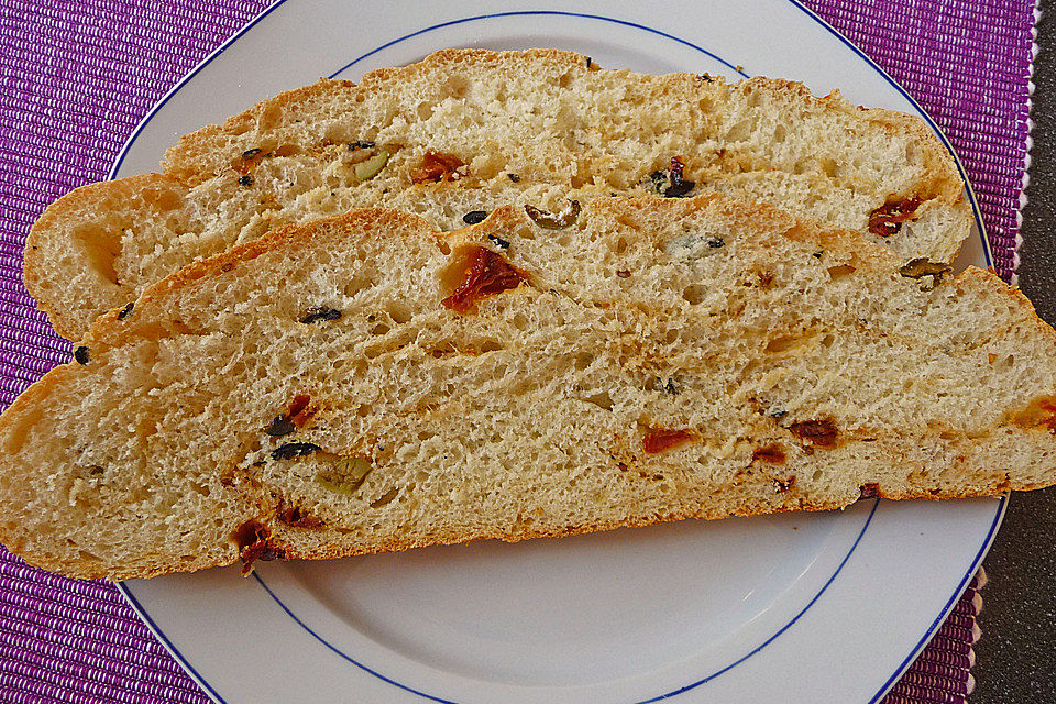
[{"label": "thin golden-brown crust around the edge of the front bread slice", "polygon": [[[726,217],[733,219],[740,218],[749,222],[768,223],[768,227],[774,227],[783,231],[782,237],[784,238],[793,241],[822,244],[834,255],[861,253],[862,256],[859,258],[859,264],[864,270],[890,270],[891,267],[897,267],[899,264],[898,257],[893,254],[887,250],[860,241],[855,233],[824,230],[812,222],[796,221],[787,213],[762,205],[740,204],[714,195],[698,196],[696,198],[676,201],[660,199],[595,201],[584,209],[584,213],[612,212],[634,220],[635,218],[660,216],[667,218],[688,218],[703,210],[711,210],[712,212],[721,211]],[[586,217],[586,215],[583,217]],[[476,241],[484,232],[502,231],[504,229],[512,230],[518,227],[518,223],[524,221],[524,213],[518,209],[512,207],[501,208],[494,211],[485,223],[448,234],[446,239],[448,239],[451,244]],[[136,326],[140,324],[142,319],[145,319],[146,322],[150,323],[152,317],[167,308],[168,301],[186,293],[187,289],[191,287],[208,285],[219,276],[232,273],[237,275],[240,267],[272,252],[293,253],[298,249],[309,250],[318,238],[331,237],[332,233],[337,231],[359,232],[364,230],[385,231],[407,238],[439,237],[436,231],[428,227],[425,220],[400,211],[385,209],[362,209],[343,216],[316,221],[304,227],[288,227],[275,230],[256,241],[237,246],[209,260],[191,264],[151,286],[136,302],[139,314],[136,320],[120,320],[117,311],[111,311],[96,321],[86,342],[89,343],[94,350],[105,350],[107,346],[118,346],[130,342],[135,339],[138,334]],[[656,237],[648,228],[639,229],[637,232],[639,237],[642,238]],[[657,242],[650,240],[649,243],[656,244]],[[631,246],[635,244],[636,242],[629,243]],[[1007,296],[1011,305],[1023,309],[1030,308],[1021,293],[1005,286],[996,275],[983,270],[969,268],[954,278],[948,285],[959,285],[971,289],[979,287],[993,289]],[[1031,315],[1033,316],[1033,311]],[[1047,336],[1050,349],[1056,352],[1056,332],[1041,322],[1036,316],[1030,319],[1030,324],[1033,326],[1034,332],[1037,334]],[[73,376],[86,373],[89,372],[75,364],[68,364],[45,375],[44,378],[31,387],[26,394],[20,397],[3,416],[0,416],[0,437],[11,438],[16,435],[10,432],[11,428],[31,418],[34,408],[46,404],[48,396],[57,385],[66,383],[66,381]],[[1015,431],[1023,437],[1028,437],[1030,432],[1040,432],[1022,428],[1015,429]],[[965,436],[958,442],[961,442],[965,448],[971,448],[974,444],[982,444],[985,440],[985,437],[968,438]],[[847,443],[844,444],[843,451],[855,454],[855,448],[865,449],[866,447],[865,443],[856,444],[855,440],[848,440]],[[1043,484],[1041,481],[1019,481],[1015,487],[1033,488],[1042,486]],[[895,488],[880,485],[877,488],[877,494],[881,497],[894,499],[926,498],[934,501],[992,495],[1007,491],[1010,485],[1010,479],[1007,476],[997,476],[988,481],[988,483],[952,488],[935,488],[934,486],[930,486],[928,488],[912,486]],[[816,501],[795,491],[781,495],[736,496],[732,498],[719,496],[712,505],[697,505],[695,508],[670,510],[657,515],[628,515],[623,519],[604,519],[559,526],[552,524],[532,526],[514,522],[502,529],[449,531],[427,537],[407,536],[403,539],[392,539],[375,543],[349,542],[340,531],[328,534],[326,529],[321,532],[312,530],[311,535],[317,538],[320,535],[329,536],[329,539],[322,542],[322,547],[319,546],[318,541],[308,542],[302,539],[302,536],[308,535],[306,532],[307,529],[278,526],[278,521],[275,520],[278,508],[275,506],[270,509],[262,508],[261,510],[264,513],[260,514],[258,517],[261,520],[273,525],[274,534],[272,544],[284,552],[288,559],[322,559],[406,550],[468,540],[499,539],[518,541],[538,537],[570,536],[686,518],[714,519],[726,516],[754,516],[788,510],[828,510],[842,508],[854,503],[857,499],[857,495],[854,494],[853,491],[854,490],[838,501]],[[0,540],[9,541],[12,549],[20,549],[16,532],[3,528],[0,530]],[[153,565],[150,569],[116,572],[101,570],[90,561],[74,560],[73,562],[55,562],[46,556],[35,554],[33,552],[25,553],[29,561],[48,569],[62,569],[66,573],[85,578],[106,576],[110,579],[151,576],[177,569],[182,571],[202,569],[213,564],[230,564],[238,559],[234,551],[226,552],[224,556],[222,559],[202,559],[198,562],[187,564],[160,564]]]}]

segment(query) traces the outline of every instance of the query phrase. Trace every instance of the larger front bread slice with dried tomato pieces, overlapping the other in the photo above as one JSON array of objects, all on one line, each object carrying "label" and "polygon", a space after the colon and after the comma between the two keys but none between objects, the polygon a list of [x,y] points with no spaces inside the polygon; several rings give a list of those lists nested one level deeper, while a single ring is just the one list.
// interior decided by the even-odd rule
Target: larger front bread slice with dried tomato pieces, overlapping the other
[{"label": "larger front bread slice with dried tomato pieces, overlapping the other", "polygon": [[996,275],[571,211],[356,210],[152,285],[0,416],[0,541],[125,579],[1056,481],[1056,333]]}]

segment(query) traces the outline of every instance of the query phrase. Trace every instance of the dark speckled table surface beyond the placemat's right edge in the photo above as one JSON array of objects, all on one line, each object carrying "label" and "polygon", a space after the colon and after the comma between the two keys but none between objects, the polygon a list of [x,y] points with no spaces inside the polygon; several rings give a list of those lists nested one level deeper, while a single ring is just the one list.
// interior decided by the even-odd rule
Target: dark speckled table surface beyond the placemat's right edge
[{"label": "dark speckled table surface beyond the placemat's right edge", "polygon": [[[1041,0],[1034,148],[1020,287],[1056,324],[1056,0]],[[982,639],[970,704],[1056,703],[1056,487],[1015,493],[983,562]]]}]

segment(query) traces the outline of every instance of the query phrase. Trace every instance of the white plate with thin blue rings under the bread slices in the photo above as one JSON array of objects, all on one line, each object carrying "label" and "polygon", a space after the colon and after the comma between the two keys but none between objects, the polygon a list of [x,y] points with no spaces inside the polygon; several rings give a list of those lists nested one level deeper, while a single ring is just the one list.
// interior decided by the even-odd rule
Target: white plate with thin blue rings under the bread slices
[{"label": "white plate with thin blue rings under the bread slices", "polygon": [[[767,74],[922,113],[798,2],[606,4],[280,2],[158,103],[113,175],[156,169],[180,134],[279,90],[449,46],[571,48],[651,73]],[[986,265],[976,234],[963,260]],[[956,603],[1004,506],[862,502],[122,588],[202,688],[231,704],[877,702]]]}]

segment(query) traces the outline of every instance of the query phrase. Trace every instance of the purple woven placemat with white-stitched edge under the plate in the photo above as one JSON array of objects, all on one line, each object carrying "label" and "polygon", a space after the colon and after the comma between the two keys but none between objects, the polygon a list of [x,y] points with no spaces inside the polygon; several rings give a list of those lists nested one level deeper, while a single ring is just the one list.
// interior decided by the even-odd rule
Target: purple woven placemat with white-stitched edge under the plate
[{"label": "purple woven placemat with white-stitched edge under the plate", "polygon": [[[70,355],[21,284],[30,224],[105,178],[139,119],[268,2],[0,0],[0,408]],[[1030,145],[1033,0],[812,0],[890,72],[956,145],[1014,280]],[[884,700],[970,693],[977,576]],[[208,700],[113,586],[24,565],[0,549],[0,702],[204,704]]]}]

